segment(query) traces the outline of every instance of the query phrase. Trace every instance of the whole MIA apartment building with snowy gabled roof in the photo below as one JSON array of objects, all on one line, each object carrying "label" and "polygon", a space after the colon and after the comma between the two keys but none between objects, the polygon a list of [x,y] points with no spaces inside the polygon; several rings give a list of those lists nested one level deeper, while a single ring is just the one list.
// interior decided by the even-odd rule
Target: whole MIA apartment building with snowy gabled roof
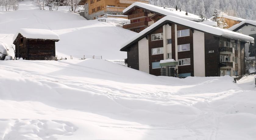
[{"label": "whole MIA apartment building with snowy gabled roof", "polygon": [[244,46],[254,38],[203,23],[165,16],[121,46],[128,67],[179,77],[245,74]]}]

